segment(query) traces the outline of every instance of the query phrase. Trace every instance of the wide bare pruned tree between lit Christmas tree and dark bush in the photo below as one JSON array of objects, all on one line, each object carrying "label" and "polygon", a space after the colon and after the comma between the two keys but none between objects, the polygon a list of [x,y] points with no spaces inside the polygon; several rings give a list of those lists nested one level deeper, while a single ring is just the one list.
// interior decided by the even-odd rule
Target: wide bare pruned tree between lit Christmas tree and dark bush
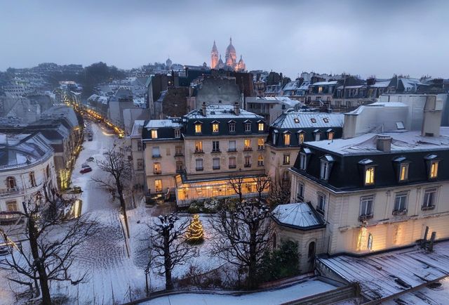
[{"label": "wide bare pruned tree between lit Christmas tree and dark bush", "polygon": [[211,254],[246,270],[246,286],[257,287],[257,264],[270,249],[273,233],[272,212],[262,202],[243,201],[229,211],[220,209],[210,219],[215,232]]}]

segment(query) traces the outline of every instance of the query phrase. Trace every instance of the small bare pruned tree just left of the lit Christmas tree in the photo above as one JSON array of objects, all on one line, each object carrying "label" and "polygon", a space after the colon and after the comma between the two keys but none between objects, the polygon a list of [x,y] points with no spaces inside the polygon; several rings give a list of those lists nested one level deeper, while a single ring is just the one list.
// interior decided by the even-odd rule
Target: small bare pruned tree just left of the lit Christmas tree
[{"label": "small bare pruned tree just left of the lit Christmas tree", "polygon": [[175,266],[185,264],[197,255],[196,247],[185,241],[189,220],[180,221],[176,214],[159,216],[158,220],[149,224],[152,266],[160,275],[165,275],[166,290],[173,289],[172,271]]}]

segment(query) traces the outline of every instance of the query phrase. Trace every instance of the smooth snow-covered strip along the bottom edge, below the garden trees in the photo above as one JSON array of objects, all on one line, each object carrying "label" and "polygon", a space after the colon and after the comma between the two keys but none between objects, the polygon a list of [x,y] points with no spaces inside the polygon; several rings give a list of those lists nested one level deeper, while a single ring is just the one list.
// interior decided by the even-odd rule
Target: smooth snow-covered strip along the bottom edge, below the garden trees
[{"label": "smooth snow-covered strip along the bottom edge, below the garden trees", "polygon": [[307,280],[302,283],[284,287],[279,290],[255,292],[250,294],[225,295],[225,294],[175,294],[167,297],[159,297],[142,303],[142,305],[274,305],[283,304],[295,299],[309,297],[313,294],[334,290],[336,287],[320,280]]}]

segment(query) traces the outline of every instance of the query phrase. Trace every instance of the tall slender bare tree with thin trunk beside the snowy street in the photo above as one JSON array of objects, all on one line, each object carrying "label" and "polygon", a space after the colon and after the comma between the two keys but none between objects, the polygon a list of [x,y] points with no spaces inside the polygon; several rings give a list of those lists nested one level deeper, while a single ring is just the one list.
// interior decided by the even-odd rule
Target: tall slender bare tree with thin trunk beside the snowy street
[{"label": "tall slender bare tree with thin trunk beside the snowy street", "polygon": [[92,178],[93,181],[100,183],[117,192],[119,195],[120,208],[125,219],[126,235],[130,238],[128,216],[126,215],[126,202],[123,191],[131,179],[132,166],[126,157],[126,152],[122,146],[114,145],[105,152],[105,159],[97,160],[97,165],[108,175],[102,178]]}]

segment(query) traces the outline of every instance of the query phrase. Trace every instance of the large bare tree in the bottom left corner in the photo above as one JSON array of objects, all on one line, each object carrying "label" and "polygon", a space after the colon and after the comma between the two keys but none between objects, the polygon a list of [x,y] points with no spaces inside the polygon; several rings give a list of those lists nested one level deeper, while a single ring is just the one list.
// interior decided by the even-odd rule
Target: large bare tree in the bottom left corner
[{"label": "large bare tree in the bottom left corner", "polygon": [[[72,275],[76,249],[88,236],[95,234],[95,221],[88,216],[69,218],[62,211],[74,208],[74,200],[62,197],[55,201],[29,198],[22,202],[23,212],[17,212],[25,221],[25,242],[17,244],[0,229],[1,238],[8,245],[8,256],[0,261],[0,268],[11,271],[8,280],[30,288],[41,294],[42,304],[51,304],[50,284],[69,281],[79,284],[86,273]],[[54,191],[52,191],[55,194]]]}]

